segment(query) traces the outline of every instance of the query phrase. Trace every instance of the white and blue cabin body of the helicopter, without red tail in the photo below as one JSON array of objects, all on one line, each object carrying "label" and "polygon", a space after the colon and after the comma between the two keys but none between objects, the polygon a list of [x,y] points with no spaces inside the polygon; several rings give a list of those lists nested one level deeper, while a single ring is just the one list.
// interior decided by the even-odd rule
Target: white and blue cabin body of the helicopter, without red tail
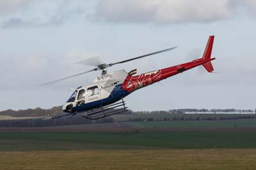
[{"label": "white and blue cabin body of the helicopter, without red tail", "polygon": [[122,89],[125,77],[127,72],[120,70],[97,77],[93,84],[80,86],[63,105],[63,111],[86,111],[122,99],[126,95],[126,91]]}]

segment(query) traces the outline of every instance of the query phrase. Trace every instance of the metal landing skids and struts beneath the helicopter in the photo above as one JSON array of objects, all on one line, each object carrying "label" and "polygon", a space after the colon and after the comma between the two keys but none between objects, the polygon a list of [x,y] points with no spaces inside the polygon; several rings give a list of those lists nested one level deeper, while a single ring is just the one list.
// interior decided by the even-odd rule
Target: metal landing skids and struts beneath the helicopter
[{"label": "metal landing skids and struts beneath the helicopter", "polygon": [[88,111],[82,115],[83,118],[86,118],[88,120],[99,120],[100,118],[106,118],[108,116],[112,116],[114,114],[118,114],[125,111],[127,111],[127,107],[125,107],[125,102],[122,99],[122,102],[106,105],[104,107],[100,107],[99,109]]}]

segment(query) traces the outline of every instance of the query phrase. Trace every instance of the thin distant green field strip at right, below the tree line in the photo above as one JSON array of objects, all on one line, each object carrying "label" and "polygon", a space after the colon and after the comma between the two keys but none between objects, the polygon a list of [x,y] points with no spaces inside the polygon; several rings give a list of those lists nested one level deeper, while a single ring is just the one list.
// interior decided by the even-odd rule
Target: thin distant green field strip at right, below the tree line
[{"label": "thin distant green field strip at right, below the tree line", "polygon": [[218,120],[218,121],[142,121],[129,122],[127,125],[138,128],[252,128],[256,119]]}]

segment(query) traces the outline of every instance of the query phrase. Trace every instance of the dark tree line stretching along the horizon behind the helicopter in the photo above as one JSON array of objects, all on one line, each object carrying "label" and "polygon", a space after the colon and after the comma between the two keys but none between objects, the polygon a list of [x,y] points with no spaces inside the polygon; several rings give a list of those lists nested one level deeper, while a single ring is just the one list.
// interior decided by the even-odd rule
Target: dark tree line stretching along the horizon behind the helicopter
[{"label": "dark tree line stretching along the horizon behind the helicopter", "polygon": [[[216,111],[212,114],[213,111]],[[242,110],[241,110],[242,111]],[[56,120],[44,120],[36,117],[48,117],[63,114],[61,106],[52,107],[51,109],[26,109],[20,111],[6,110],[1,111],[1,115],[13,117],[30,117],[28,119],[17,120],[0,120],[0,127],[49,127],[58,125],[80,125],[87,123],[110,123],[114,121],[210,121],[210,120],[236,120],[255,118],[256,114],[252,110],[243,110],[251,114],[231,114],[237,113],[236,109],[172,109],[169,111],[127,111],[120,115],[122,119],[115,120],[115,117],[108,117],[97,121],[91,121],[81,118],[81,115],[60,118]],[[185,114],[188,112],[196,112],[197,114]],[[208,112],[208,113],[207,113]],[[218,114],[217,112],[225,112],[227,114]],[[204,114],[202,114],[204,113]],[[211,114],[209,114],[211,113]],[[238,112],[239,113],[239,112]],[[129,114],[125,116],[124,114]],[[35,118],[33,118],[35,117]]]}]

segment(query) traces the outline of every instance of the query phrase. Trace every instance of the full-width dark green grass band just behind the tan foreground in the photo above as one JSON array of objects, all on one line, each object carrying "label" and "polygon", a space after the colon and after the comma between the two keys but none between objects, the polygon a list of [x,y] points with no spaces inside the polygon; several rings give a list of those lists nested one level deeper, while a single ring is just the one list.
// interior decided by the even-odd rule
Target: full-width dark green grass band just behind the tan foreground
[{"label": "full-width dark green grass band just behind the tan foreground", "polygon": [[256,148],[256,132],[1,132],[0,151]]}]

